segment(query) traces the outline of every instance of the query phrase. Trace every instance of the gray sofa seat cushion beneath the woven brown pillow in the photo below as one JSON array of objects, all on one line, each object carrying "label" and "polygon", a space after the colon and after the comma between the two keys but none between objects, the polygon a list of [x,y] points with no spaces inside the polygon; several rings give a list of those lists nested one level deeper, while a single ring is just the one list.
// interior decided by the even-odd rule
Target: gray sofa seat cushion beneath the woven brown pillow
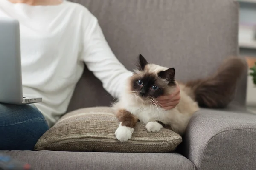
[{"label": "gray sofa seat cushion beneath the woven brown pillow", "polygon": [[5,151],[31,164],[33,170],[195,170],[178,153],[100,153],[54,151]]}]

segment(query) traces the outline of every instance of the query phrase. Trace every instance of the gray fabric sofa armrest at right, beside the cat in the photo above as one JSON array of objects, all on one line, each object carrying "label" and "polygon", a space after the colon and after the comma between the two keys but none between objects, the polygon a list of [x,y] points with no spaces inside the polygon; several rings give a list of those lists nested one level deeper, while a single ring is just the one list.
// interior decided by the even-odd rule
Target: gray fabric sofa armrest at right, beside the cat
[{"label": "gray fabric sofa armrest at right, beside the cat", "polygon": [[256,115],[247,111],[201,109],[183,138],[183,154],[197,170],[253,170]]}]

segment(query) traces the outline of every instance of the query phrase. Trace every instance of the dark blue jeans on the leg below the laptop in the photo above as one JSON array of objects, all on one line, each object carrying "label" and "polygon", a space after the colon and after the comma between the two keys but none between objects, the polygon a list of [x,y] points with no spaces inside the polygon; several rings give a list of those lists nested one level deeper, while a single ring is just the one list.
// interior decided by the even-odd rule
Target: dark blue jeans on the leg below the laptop
[{"label": "dark blue jeans on the leg below the laptop", "polygon": [[48,129],[34,106],[0,103],[0,150],[33,150]]}]

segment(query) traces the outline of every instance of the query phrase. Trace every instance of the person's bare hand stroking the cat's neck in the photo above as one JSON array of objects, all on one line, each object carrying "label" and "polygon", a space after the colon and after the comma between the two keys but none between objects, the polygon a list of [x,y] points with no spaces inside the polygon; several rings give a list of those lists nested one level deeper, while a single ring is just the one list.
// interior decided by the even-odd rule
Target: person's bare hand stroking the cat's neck
[{"label": "person's bare hand stroking the cat's neck", "polygon": [[157,98],[157,101],[165,110],[170,110],[175,108],[180,102],[180,86],[176,85],[176,90],[173,94],[167,96],[160,96]]}]

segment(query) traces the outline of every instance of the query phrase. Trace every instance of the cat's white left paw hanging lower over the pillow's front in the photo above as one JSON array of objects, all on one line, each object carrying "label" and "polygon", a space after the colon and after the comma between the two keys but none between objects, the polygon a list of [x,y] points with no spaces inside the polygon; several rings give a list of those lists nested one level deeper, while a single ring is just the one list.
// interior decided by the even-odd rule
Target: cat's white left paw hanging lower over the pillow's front
[{"label": "cat's white left paw hanging lower over the pillow's front", "polygon": [[118,139],[121,142],[126,142],[129,139],[131,139],[131,135],[133,132],[134,132],[134,128],[119,125],[119,127],[115,132],[116,139]]}]

